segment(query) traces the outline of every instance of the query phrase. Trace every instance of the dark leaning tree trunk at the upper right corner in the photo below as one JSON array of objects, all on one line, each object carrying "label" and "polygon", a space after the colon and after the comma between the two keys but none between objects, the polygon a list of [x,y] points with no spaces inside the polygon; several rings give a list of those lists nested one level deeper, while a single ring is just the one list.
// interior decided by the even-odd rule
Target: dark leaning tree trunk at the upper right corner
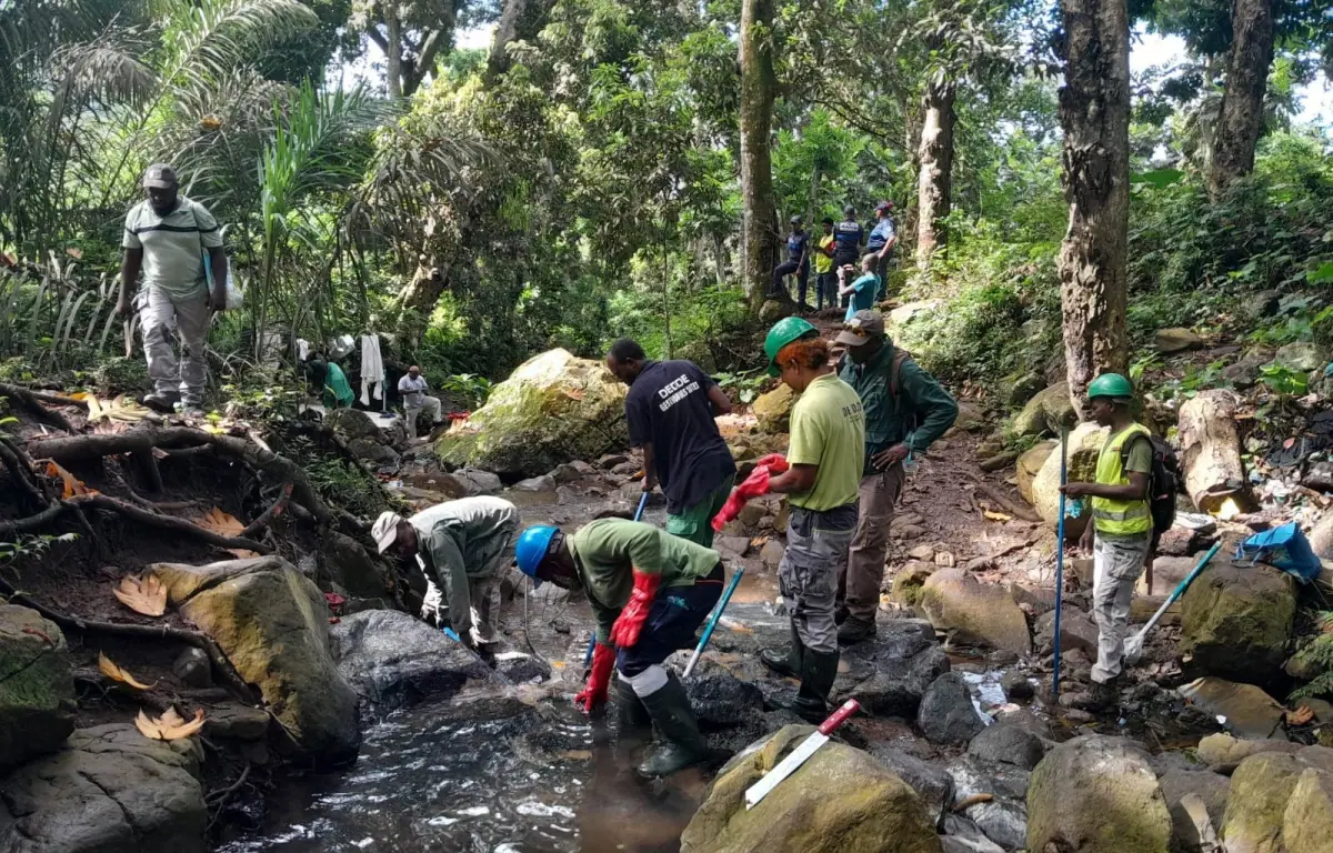
[{"label": "dark leaning tree trunk at the upper right corner", "polygon": [[1273,64],[1273,1],[1233,0],[1232,52],[1226,89],[1217,115],[1208,189],[1214,197],[1254,169],[1254,147],[1264,129],[1264,93]]}]

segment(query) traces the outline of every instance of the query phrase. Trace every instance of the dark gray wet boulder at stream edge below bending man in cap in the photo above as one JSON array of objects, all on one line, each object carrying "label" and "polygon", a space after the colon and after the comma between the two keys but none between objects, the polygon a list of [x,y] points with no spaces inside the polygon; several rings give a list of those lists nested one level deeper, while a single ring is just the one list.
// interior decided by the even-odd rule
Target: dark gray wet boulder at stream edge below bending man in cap
[{"label": "dark gray wet boulder at stream edge below bending man in cap", "polygon": [[400,610],[363,610],[329,630],[337,672],[368,713],[448,698],[469,681],[499,685],[495,670],[443,630]]}]

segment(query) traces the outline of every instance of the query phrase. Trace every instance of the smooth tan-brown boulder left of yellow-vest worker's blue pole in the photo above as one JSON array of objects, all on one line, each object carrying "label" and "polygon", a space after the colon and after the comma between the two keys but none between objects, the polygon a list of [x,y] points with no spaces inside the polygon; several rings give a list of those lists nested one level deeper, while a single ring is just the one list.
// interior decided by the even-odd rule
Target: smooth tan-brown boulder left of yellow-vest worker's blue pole
[{"label": "smooth tan-brown boulder left of yellow-vest worker's blue pole", "polygon": [[957,641],[1016,654],[1032,652],[1028,620],[1001,586],[981,584],[965,569],[941,569],[921,586],[921,609]]}]

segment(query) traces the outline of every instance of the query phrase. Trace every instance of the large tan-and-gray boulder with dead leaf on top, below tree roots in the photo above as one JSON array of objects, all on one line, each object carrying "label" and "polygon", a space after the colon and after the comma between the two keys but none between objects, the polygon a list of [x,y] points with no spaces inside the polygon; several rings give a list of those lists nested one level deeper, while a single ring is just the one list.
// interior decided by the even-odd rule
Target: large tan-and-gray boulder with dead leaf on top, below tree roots
[{"label": "large tan-and-gray boulder with dead leaf on top, below tree roots", "polygon": [[319,764],[356,757],[356,693],[329,654],[328,602],[319,586],[276,556],[159,562],[151,570],[167,586],[168,602],[260,689],[291,736],[285,746]]}]

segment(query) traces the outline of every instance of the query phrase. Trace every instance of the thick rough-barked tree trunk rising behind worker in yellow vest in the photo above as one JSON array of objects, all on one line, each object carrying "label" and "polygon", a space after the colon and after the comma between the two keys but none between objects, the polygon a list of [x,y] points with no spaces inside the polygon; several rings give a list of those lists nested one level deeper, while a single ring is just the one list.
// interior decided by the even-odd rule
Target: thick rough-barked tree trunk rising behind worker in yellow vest
[{"label": "thick rough-barked tree trunk rising behind worker in yellow vest", "polygon": [[1129,21],[1125,0],[1062,0],[1060,124],[1069,228],[1060,247],[1065,373],[1088,417],[1088,384],[1124,373],[1129,228]]}]

